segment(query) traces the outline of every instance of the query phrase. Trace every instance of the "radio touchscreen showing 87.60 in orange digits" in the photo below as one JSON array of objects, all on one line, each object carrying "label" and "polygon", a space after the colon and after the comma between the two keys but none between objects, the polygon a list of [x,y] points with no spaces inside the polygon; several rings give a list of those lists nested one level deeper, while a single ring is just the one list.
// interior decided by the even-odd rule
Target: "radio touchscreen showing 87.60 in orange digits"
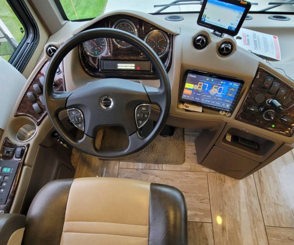
[{"label": "radio touchscreen showing 87.60 in orange digits", "polygon": [[244,81],[203,71],[187,70],[179,100],[231,112]]}]

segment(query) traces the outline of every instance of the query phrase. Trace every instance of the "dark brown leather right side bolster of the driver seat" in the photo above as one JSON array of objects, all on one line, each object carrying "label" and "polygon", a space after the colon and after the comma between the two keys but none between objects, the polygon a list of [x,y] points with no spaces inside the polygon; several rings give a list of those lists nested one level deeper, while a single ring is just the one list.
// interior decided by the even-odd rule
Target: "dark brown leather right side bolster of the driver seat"
[{"label": "dark brown leather right side bolster of the driver seat", "polygon": [[188,245],[185,197],[175,187],[150,185],[149,245]]}]

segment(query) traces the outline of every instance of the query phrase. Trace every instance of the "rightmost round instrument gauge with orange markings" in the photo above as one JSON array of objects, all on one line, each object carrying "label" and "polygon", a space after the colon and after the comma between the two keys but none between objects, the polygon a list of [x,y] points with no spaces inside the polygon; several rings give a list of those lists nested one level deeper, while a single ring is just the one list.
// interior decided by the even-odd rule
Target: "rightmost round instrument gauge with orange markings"
[{"label": "rightmost round instrument gauge with orange markings", "polygon": [[161,30],[150,31],[144,41],[155,51],[155,53],[162,57],[167,53],[170,47],[170,40],[167,34]]}]

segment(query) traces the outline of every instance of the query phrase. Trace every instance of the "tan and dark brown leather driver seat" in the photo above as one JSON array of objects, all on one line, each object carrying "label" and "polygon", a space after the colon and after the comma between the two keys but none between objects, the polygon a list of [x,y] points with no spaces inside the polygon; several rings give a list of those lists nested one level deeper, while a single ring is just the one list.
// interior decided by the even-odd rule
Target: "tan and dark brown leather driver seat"
[{"label": "tan and dark brown leather driver seat", "polygon": [[22,244],[186,245],[185,198],[174,187],[132,179],[51,181],[31,203]]}]

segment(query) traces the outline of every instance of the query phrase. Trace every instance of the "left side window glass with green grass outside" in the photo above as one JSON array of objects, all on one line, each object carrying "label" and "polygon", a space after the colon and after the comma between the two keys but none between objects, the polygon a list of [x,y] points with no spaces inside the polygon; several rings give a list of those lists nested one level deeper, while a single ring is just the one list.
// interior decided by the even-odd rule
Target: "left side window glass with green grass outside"
[{"label": "left side window glass with green grass outside", "polygon": [[0,0],[0,56],[9,60],[25,36],[25,28],[6,0]]}]

